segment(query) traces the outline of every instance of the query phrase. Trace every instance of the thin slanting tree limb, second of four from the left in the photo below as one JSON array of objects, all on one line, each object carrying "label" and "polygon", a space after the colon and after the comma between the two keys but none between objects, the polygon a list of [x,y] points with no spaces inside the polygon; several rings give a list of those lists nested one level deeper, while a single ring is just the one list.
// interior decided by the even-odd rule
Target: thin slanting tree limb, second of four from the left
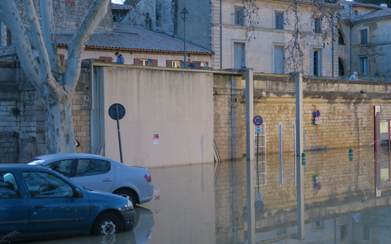
[{"label": "thin slanting tree limb, second of four from the left", "polygon": [[56,82],[51,72],[49,55],[45,46],[45,42],[43,41],[42,31],[39,25],[34,4],[32,0],[23,0],[23,3],[25,6],[27,19],[30,22],[34,43],[39,53],[39,70],[41,71],[41,77],[43,79],[42,82],[43,84],[52,87],[54,91],[61,93],[61,87],[59,86],[58,82]]}]

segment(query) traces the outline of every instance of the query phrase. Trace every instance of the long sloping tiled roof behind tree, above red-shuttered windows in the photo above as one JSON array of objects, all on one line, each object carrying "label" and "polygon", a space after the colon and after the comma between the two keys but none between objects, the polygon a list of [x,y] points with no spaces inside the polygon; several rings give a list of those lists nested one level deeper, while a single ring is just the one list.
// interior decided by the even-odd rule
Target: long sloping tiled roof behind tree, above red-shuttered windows
[{"label": "long sloping tiled roof behind tree, above red-shuttered windows", "polygon": [[[121,50],[145,50],[183,52],[183,39],[157,32],[141,25],[115,23],[114,31],[93,33],[86,47],[112,48]],[[57,33],[57,45],[68,45],[73,33]],[[197,44],[186,42],[186,52],[213,54],[212,51]]]}]

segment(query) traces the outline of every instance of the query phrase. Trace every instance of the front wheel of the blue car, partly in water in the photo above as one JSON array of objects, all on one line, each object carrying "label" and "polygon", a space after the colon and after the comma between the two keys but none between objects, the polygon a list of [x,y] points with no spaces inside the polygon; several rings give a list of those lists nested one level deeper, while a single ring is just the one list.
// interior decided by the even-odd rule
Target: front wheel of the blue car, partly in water
[{"label": "front wheel of the blue car, partly in water", "polygon": [[121,219],[115,214],[106,213],[98,216],[92,226],[93,235],[109,235],[122,232]]}]

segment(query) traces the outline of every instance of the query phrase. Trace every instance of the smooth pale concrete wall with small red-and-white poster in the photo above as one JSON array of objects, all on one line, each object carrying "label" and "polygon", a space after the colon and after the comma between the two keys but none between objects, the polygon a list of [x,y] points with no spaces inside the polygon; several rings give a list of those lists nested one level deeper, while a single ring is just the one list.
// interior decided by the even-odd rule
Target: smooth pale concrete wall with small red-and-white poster
[{"label": "smooth pale concrete wall with small red-and-white poster", "polygon": [[[113,103],[120,120],[124,163],[168,166],[213,162],[213,74],[161,68],[99,68],[103,78],[106,157],[120,160]],[[154,144],[154,135],[159,144]]]}]

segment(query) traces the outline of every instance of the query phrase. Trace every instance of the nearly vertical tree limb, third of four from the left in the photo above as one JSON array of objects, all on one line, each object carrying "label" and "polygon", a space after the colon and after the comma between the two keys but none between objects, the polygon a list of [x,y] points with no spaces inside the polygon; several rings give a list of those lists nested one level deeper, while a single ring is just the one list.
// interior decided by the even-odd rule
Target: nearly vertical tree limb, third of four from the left
[{"label": "nearly vertical tree limb, third of four from the left", "polygon": [[[57,52],[56,29],[54,27],[53,4],[51,0],[41,0],[41,26],[43,32],[43,41],[49,55],[50,68],[54,72],[57,81],[61,77],[61,64]],[[61,77],[62,78],[62,77]]]}]

